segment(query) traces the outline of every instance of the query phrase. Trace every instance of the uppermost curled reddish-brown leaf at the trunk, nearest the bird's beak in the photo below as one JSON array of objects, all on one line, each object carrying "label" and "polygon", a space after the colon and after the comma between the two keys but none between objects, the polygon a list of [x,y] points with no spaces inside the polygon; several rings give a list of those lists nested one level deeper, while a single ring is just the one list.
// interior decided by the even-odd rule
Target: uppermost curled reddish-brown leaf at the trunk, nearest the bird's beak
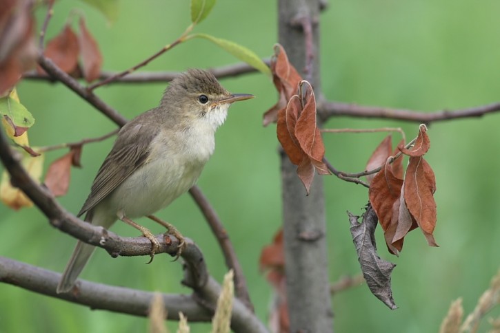
[{"label": "uppermost curled reddish-brown leaf at the trunk, nearest the bird's beak", "polygon": [[283,46],[274,45],[274,56],[271,60],[272,82],[278,90],[279,100],[264,114],[263,125],[267,126],[271,122],[276,122],[279,111],[288,105],[290,98],[296,94],[302,78],[297,70],[288,62]]}]

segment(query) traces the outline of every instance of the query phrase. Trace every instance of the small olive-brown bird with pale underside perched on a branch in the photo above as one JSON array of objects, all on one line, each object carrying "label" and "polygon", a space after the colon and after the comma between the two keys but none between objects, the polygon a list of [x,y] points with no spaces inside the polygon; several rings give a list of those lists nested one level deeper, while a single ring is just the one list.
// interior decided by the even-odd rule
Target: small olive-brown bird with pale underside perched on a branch
[{"label": "small olive-brown bird with pale underside perched on a branch", "polygon": [[[158,107],[120,129],[77,216],[86,214],[86,222],[106,229],[118,219],[130,224],[152,241],[153,256],[157,239],[133,219],[165,208],[197,182],[214,152],[214,133],[226,120],[228,108],[250,98],[254,96],[231,94],[203,69],[188,69],[174,78]],[[74,288],[94,249],[78,241],[57,293]]]}]

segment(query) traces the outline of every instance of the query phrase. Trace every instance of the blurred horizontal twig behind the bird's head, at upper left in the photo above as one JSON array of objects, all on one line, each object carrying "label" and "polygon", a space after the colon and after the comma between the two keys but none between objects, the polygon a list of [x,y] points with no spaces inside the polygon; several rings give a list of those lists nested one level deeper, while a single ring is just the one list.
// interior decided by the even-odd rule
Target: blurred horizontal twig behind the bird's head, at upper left
[{"label": "blurred horizontal twig behind the bird's head, at upper left", "polygon": [[[270,65],[270,59],[263,59],[264,63]],[[228,78],[239,76],[248,73],[257,73],[257,69],[248,65],[248,63],[235,63],[234,65],[226,65],[221,67],[209,68],[208,71],[212,72],[216,78]],[[180,72],[134,72],[127,76],[122,76],[115,80],[112,80],[109,84],[114,83],[157,83],[164,82],[168,83],[177,76]],[[101,72],[99,78],[101,80],[106,80],[112,76],[116,76],[116,72]],[[47,76],[45,74],[39,74],[37,71],[29,71],[23,74],[23,78],[30,80],[44,80],[44,81],[54,81],[54,78]],[[76,78],[83,78],[81,75]]]}]

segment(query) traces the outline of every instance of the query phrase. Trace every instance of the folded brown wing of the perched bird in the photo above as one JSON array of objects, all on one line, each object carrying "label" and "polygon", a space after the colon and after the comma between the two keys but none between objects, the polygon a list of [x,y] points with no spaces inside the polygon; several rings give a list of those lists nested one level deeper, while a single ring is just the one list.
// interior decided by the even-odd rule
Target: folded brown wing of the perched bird
[{"label": "folded brown wing of the perched bird", "polygon": [[[123,136],[124,131],[127,132],[126,136]],[[150,131],[150,127],[146,129],[133,120],[120,131],[113,148],[97,172],[90,195],[77,216],[94,208],[148,160],[150,143],[155,136],[157,131]]]}]

